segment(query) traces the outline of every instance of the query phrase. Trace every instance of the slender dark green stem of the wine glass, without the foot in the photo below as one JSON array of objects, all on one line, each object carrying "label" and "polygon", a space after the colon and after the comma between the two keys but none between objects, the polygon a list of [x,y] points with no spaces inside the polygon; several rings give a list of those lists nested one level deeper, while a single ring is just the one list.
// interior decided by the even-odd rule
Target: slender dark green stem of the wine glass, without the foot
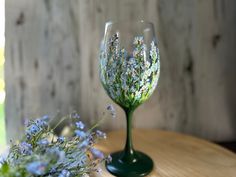
[{"label": "slender dark green stem of the wine glass, without the foot", "polygon": [[135,160],[135,152],[133,149],[132,141],[132,118],[133,118],[133,109],[124,109],[126,115],[126,144],[124,149],[124,154],[122,161],[127,163],[132,163]]}]

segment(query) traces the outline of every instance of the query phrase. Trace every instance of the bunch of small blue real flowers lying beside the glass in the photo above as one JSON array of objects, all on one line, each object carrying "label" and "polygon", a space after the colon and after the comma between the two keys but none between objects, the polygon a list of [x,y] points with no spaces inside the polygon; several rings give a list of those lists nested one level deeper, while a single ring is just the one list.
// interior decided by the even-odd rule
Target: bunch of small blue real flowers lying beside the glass
[{"label": "bunch of small blue real flowers lying beside the glass", "polygon": [[[107,110],[107,115],[115,116],[112,106]],[[65,120],[72,122],[70,136],[57,137],[54,129]],[[0,176],[82,177],[100,172],[98,164],[111,160],[94,147],[106,138],[96,129],[99,123],[87,129],[77,113],[63,117],[53,128],[50,121],[49,116],[43,116],[27,122],[22,140],[12,143],[7,157],[0,161]]]}]

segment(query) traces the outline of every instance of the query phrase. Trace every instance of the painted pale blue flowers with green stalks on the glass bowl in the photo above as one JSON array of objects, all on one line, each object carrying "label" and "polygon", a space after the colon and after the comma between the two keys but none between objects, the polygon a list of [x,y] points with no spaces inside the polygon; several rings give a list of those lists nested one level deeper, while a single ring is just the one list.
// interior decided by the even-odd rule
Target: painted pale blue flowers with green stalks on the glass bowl
[{"label": "painted pale blue flowers with green stalks on the glass bowl", "polygon": [[[106,48],[104,47],[106,46]],[[119,105],[133,108],[153,93],[160,74],[159,51],[154,40],[150,50],[143,36],[133,40],[133,52],[121,48],[114,34],[100,53],[100,77],[108,95]]]}]

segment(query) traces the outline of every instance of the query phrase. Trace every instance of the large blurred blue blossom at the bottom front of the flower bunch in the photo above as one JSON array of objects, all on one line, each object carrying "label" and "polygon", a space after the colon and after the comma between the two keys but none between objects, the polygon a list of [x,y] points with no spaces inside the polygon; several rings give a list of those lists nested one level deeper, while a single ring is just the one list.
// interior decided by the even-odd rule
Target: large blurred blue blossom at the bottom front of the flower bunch
[{"label": "large blurred blue blossom at the bottom front of the flower bunch", "polygon": [[26,166],[26,170],[33,175],[44,175],[47,170],[47,165],[48,164],[45,162],[36,161],[29,163]]}]

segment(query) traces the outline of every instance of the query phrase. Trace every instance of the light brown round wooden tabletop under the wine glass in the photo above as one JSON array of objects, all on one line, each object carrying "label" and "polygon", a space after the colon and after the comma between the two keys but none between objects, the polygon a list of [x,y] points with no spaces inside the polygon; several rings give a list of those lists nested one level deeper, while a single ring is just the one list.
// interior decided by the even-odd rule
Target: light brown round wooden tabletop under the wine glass
[{"label": "light brown round wooden tabletop under the wine glass", "polygon": [[[133,136],[135,148],[154,160],[149,177],[236,177],[236,154],[216,144],[160,130],[134,130]],[[124,141],[124,131],[111,132],[98,147],[110,153],[122,149]],[[112,177],[105,169],[97,176]]]}]

